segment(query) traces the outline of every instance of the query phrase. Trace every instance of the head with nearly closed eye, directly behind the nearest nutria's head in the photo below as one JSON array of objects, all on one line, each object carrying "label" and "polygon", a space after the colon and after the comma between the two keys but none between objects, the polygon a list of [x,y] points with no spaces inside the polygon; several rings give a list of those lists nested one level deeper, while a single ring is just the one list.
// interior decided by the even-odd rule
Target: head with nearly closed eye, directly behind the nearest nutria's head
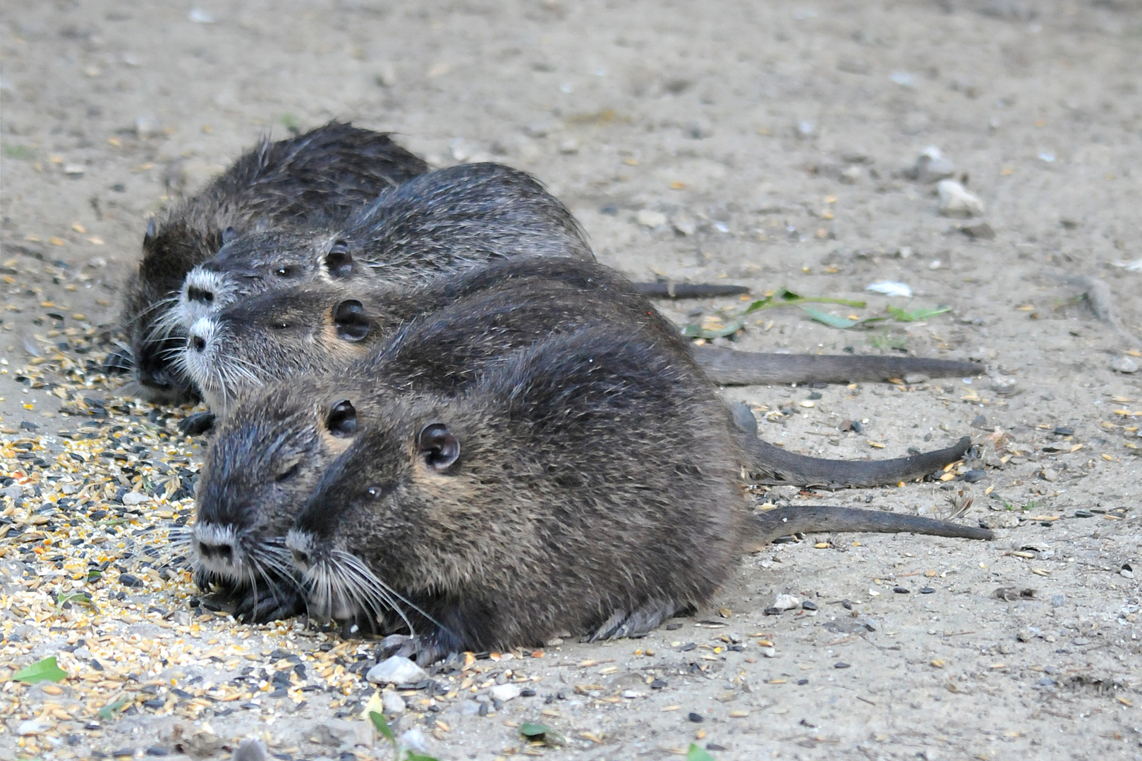
[{"label": "head with nearly closed eye, directly behind the nearest nutria's head", "polygon": [[292,575],[286,532],[355,434],[356,408],[329,397],[319,379],[243,398],[202,465],[191,540],[200,569],[241,584],[257,584],[263,572]]}]

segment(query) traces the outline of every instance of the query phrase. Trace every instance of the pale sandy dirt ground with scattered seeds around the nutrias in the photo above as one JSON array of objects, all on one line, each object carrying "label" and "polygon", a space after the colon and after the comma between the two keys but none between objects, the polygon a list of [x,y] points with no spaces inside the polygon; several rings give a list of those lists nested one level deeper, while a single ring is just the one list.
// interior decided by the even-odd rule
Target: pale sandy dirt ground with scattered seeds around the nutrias
[{"label": "pale sandy dirt ground with scattered seeds around the nutrias", "polygon": [[[11,459],[22,443],[61,462],[77,451],[58,434],[83,424],[66,412],[91,405],[54,395],[49,373],[16,377],[66,364],[57,351],[82,366],[106,350],[147,216],[263,133],[333,118],[392,130],[435,165],[533,172],[600,259],[636,278],[867,299],[822,307],[841,316],[951,307],[847,331],[796,308],[756,313],[741,348],[986,364],[971,381],[727,395],[755,407],[763,437],[806,453],[898,456],[970,432],[980,458],[960,470],[983,469],[975,483],[770,499],[948,515],[972,497],[967,520],[997,526],[996,541],[838,535],[767,548],[711,609],[645,639],[568,641],[542,658],[434,675],[435,697],[405,690],[408,743],[486,761],[665,759],[691,743],[718,760],[1142,759],[1142,372],[1111,367],[1142,364],[1137,3],[8,0],[0,19],[6,467],[25,462]],[[927,146],[954,162],[982,217],[941,216],[934,185],[909,176]],[[915,296],[864,290],[877,281]],[[743,305],[664,310],[684,324]],[[74,350],[85,333],[89,356]],[[61,338],[67,348],[53,346]],[[105,420],[131,431],[186,412],[120,403],[97,378],[89,388],[106,398]],[[841,432],[845,420],[863,432]],[[198,443],[154,426],[139,436],[188,471],[201,459]],[[43,494],[25,489],[16,508],[17,488],[0,511],[26,517],[49,484],[71,494],[78,462],[56,469],[62,480],[45,465]],[[185,523],[192,502],[177,496],[159,494],[128,527],[179,511]],[[70,531],[89,524],[80,516]],[[39,561],[46,552],[17,548],[31,534],[16,535],[0,539],[0,665],[10,675],[58,655],[71,678],[0,688],[0,758],[217,758],[247,736],[282,759],[389,754],[362,729],[372,690],[343,679],[368,664],[368,643],[201,615],[185,577],[122,586],[137,562],[114,560],[122,542],[102,545],[121,574],[93,592],[104,622],[79,607],[53,618],[43,612],[62,598],[45,590],[73,569],[61,560],[57,574]],[[817,610],[766,615],[782,593]],[[287,655],[289,667],[312,665],[317,687],[274,699],[264,680],[242,702],[217,697],[243,658],[257,682]],[[534,696],[490,702],[492,685],[523,677]],[[116,695],[126,703],[99,717]],[[565,745],[529,745],[524,721]]]}]

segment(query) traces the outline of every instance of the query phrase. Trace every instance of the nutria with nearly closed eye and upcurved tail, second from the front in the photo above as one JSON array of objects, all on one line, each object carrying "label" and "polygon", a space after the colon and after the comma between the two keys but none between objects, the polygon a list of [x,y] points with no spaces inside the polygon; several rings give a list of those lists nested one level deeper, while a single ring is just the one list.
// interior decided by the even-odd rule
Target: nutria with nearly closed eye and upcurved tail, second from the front
[{"label": "nutria with nearly closed eye and upcurved tail, second from the front", "polygon": [[[605,277],[595,281],[587,275],[597,288],[585,298],[582,282],[577,282],[573,273],[605,275],[604,268],[577,262],[564,273],[564,280],[545,280],[523,276],[523,264],[525,260],[505,261],[486,268],[490,272],[471,273],[466,292],[451,281],[443,306],[408,322],[336,377],[303,373],[238,396],[218,427],[199,481],[192,545],[202,586],[218,582],[223,588],[235,588],[236,612],[255,620],[282,615],[297,605],[296,590],[289,592],[288,585],[272,584],[268,578],[281,577],[288,562],[281,537],[321,472],[355,436],[357,419],[377,418],[370,402],[373,397],[384,398],[386,392],[460,394],[482,374],[509,362],[514,351],[587,326],[653,346],[656,356],[669,357],[687,369],[693,382],[713,389],[693,367],[685,341],[657,311],[630,309],[626,293],[609,290]],[[540,258],[531,264],[536,275],[557,269],[558,262]],[[498,278],[496,270],[516,276]],[[477,288],[480,275],[494,285]],[[331,311],[339,303],[333,302]],[[416,308],[424,302],[413,298],[411,303]],[[347,330],[364,326],[372,332],[375,323],[359,319],[359,310],[349,310],[346,317],[343,326]],[[323,334],[327,329],[337,329],[335,315],[322,329],[306,327],[301,333]],[[295,348],[292,359],[305,361],[316,351],[305,340]],[[355,402],[343,404],[347,397]],[[726,419],[725,407],[718,410]],[[959,459],[970,444],[962,439],[948,450],[914,458],[843,462],[793,454],[757,439],[755,432],[735,431],[756,480],[765,483],[894,484]],[[259,577],[266,578],[272,597],[258,594],[254,582]]]}]

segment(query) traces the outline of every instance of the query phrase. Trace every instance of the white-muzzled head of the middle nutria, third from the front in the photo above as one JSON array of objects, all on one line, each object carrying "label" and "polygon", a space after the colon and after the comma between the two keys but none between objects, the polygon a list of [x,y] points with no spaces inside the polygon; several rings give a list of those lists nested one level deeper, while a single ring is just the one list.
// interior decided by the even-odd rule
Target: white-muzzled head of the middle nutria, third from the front
[{"label": "white-muzzled head of the middle nutria, third from the front", "polygon": [[199,318],[182,362],[207,404],[225,414],[243,389],[329,372],[363,356],[383,334],[377,313],[336,286],[273,291]]}]

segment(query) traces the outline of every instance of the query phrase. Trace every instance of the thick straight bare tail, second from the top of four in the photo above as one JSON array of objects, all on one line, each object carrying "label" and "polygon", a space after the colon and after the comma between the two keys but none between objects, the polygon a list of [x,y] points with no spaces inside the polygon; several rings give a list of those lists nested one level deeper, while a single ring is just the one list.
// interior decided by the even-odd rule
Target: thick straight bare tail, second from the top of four
[{"label": "thick straight bare tail, second from the top of four", "polygon": [[692,356],[719,386],[758,383],[851,383],[884,381],[910,374],[933,378],[979,375],[983,365],[924,357],[877,357],[835,354],[765,354],[695,346]]}]

